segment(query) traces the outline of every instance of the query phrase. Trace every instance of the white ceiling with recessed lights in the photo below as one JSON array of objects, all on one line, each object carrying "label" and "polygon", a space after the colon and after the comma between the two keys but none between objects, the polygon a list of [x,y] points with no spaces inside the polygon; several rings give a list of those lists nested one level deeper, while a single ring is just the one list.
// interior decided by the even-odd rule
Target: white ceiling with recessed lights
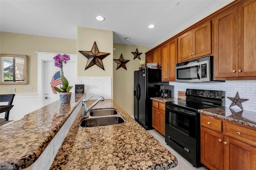
[{"label": "white ceiling with recessed lights", "polygon": [[113,31],[114,43],[155,47],[232,1],[0,0],[0,31],[76,39],[88,27]]}]

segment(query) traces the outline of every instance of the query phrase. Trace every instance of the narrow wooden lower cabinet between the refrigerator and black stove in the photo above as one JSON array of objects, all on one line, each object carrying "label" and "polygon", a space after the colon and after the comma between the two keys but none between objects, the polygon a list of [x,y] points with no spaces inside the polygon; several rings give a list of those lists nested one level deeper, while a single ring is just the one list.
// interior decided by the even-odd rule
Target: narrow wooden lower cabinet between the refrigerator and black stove
[{"label": "narrow wooden lower cabinet between the refrigerator and black stove", "polygon": [[152,127],[165,136],[165,104],[152,102]]}]

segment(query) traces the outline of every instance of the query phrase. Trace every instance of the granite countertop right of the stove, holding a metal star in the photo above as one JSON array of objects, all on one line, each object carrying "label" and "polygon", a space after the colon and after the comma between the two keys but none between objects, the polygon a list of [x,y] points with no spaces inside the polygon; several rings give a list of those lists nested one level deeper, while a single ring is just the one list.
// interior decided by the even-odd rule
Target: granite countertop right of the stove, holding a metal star
[{"label": "granite countertop right of the stove, holding a metal star", "polygon": [[256,112],[234,109],[230,107],[216,107],[210,109],[199,109],[200,113],[210,116],[219,117],[250,127],[256,127]]}]

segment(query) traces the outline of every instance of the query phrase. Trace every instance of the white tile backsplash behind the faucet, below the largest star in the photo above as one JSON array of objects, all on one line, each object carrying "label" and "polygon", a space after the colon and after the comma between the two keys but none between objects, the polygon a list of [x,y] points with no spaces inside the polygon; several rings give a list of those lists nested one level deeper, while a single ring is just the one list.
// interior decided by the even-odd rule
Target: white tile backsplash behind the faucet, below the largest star
[{"label": "white tile backsplash behind the faucet, below the largest star", "polygon": [[[86,99],[99,99],[103,96],[105,99],[111,99],[111,77],[77,77],[79,84],[84,84]],[[80,83],[81,82],[81,83]]]}]

